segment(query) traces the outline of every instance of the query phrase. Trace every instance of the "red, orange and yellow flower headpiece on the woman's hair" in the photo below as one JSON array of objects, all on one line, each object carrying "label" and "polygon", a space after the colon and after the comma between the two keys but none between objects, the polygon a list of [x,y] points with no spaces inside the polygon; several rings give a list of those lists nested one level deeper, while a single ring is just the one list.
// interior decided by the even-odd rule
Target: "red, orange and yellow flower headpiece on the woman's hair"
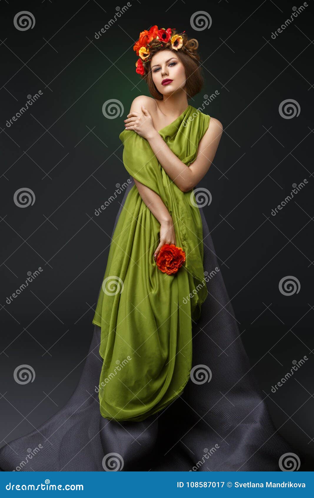
[{"label": "red, orange and yellow flower headpiece on the woman's hair", "polygon": [[137,74],[143,75],[145,73],[143,62],[145,63],[150,61],[149,43],[152,40],[157,39],[162,43],[168,43],[170,41],[172,48],[174,48],[175,50],[178,50],[183,46],[183,37],[180,34],[175,34],[175,29],[176,28],[158,29],[158,26],[155,25],[152,26],[149,31],[144,29],[144,31],[140,32],[139,39],[133,47],[136,55],[139,55],[139,59],[137,59],[135,63]]}]

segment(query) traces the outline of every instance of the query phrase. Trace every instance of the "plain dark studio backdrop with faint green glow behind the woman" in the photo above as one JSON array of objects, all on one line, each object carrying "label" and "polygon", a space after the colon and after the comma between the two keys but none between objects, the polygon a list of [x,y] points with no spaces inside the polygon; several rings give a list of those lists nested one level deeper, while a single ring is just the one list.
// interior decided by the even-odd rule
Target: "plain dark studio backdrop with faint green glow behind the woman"
[{"label": "plain dark studio backdrop with faint green glow behind the woman", "polygon": [[[272,32],[301,3],[130,3],[99,39],[95,32],[116,5],[0,4],[0,444],[65,404],[82,371],[123,194],[100,216],[95,210],[128,178],[118,135],[132,100],[148,95],[135,73],[133,44],[157,24],[186,30],[200,43],[205,85],[189,104],[198,108],[204,95],[219,92],[204,112],[221,121],[224,133],[198,187],[212,195],[204,211],[252,370],[270,395],[276,428],[302,456],[301,470],[313,470],[314,2],[276,39]],[[33,28],[14,27],[21,10],[32,12]],[[212,24],[194,30],[191,15],[201,10]],[[39,90],[42,96],[7,127]],[[112,99],[123,111],[109,120],[102,108]],[[299,116],[280,115],[287,99],[297,101]],[[308,184],[272,216],[304,179]],[[25,187],[35,201],[19,208],[13,196]],[[39,267],[40,275],[7,304]],[[279,281],[288,275],[300,290],[285,296]],[[305,355],[305,365],[272,393]],[[13,371],[23,364],[36,377],[20,385]]]}]

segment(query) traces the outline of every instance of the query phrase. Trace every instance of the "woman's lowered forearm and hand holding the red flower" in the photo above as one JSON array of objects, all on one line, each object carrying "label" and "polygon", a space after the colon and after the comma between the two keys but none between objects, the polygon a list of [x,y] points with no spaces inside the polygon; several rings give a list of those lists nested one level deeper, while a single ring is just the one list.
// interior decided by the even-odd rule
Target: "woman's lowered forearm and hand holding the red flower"
[{"label": "woman's lowered forearm and hand holding the red flower", "polygon": [[159,246],[154,252],[157,257],[158,252],[164,244],[176,245],[176,234],[173,221],[168,209],[166,208],[159,195],[150,188],[146,187],[146,185],[143,185],[138,180],[135,180],[135,178],[134,182],[143,202],[160,223],[160,242]]}]

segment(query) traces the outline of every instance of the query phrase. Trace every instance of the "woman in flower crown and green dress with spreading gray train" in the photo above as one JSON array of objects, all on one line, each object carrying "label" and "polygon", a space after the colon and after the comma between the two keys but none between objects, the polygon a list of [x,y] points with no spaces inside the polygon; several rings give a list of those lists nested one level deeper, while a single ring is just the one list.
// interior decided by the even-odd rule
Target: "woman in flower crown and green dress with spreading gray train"
[{"label": "woman in flower crown and green dress with spreading gray train", "polygon": [[267,471],[291,451],[252,374],[193,191],[222,132],[188,105],[203,84],[197,48],[157,26],[134,45],[152,98],[134,99],[120,134],[130,183],[85,368],[62,409],[0,450],[2,470]]}]

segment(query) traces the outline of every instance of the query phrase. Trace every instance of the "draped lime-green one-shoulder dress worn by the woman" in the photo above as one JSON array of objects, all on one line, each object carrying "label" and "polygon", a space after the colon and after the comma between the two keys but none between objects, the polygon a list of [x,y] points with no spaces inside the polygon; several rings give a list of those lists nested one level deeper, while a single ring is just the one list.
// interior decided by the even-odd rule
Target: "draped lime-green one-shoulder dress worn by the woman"
[{"label": "draped lime-green one-shoulder dress worn by the woman", "polygon": [[[159,131],[189,166],[209,126],[209,116],[189,105]],[[173,275],[154,260],[160,223],[130,189],[109,249],[93,324],[101,327],[101,415],[140,421],[162,410],[183,391],[192,368],[192,322],[208,291],[203,267],[203,226],[193,189],[182,192],[159,164],[148,141],[132,130],[119,135],[123,163],[156,192],[175,228],[186,261]]]}]

